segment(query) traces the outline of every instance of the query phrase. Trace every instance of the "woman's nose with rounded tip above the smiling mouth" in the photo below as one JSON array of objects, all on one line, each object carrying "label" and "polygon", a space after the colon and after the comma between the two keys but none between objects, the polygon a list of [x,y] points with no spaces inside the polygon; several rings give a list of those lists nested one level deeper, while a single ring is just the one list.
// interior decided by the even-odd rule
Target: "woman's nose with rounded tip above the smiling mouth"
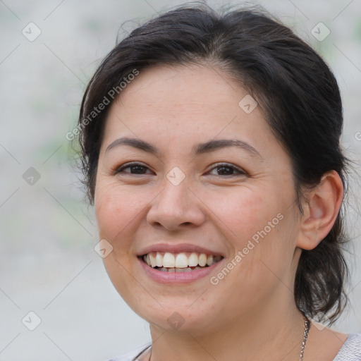
[{"label": "woman's nose with rounded tip above the smiling mouth", "polygon": [[173,185],[166,180],[149,208],[147,222],[170,231],[200,226],[206,219],[203,209],[202,201],[189,188],[188,182]]}]

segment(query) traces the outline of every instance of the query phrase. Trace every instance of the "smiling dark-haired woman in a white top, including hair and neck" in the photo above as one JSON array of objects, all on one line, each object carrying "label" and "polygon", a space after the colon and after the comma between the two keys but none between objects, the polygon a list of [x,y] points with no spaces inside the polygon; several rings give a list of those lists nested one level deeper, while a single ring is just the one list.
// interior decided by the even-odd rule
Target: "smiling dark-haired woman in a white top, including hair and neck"
[{"label": "smiling dark-haired woman in a white top, including hair and neck", "polygon": [[116,290],[152,345],[115,360],[361,360],[332,324],[348,274],[338,85],[287,27],[183,6],[135,29],[80,110]]}]

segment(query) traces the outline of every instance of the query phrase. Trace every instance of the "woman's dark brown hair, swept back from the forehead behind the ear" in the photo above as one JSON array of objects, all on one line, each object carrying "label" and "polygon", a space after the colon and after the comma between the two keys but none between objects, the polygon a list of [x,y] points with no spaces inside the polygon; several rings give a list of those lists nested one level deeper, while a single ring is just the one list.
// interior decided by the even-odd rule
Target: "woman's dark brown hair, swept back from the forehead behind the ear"
[{"label": "woman's dark brown hair, swept back from the forehead behind the ear", "polygon": [[[116,44],[90,80],[78,124],[90,204],[94,202],[99,149],[110,106],[91,119],[89,114],[135,69],[141,72],[157,64],[188,63],[209,63],[235,75],[257,99],[264,118],[292,161],[295,202],[301,214],[304,191],[318,185],[327,171],[335,170],[346,188],[349,160],[340,143],[341,96],[322,58],[263,11],[216,13],[207,5],[193,4],[135,28]],[[117,94],[121,96],[120,91]],[[333,228],[314,250],[302,250],[295,276],[294,295],[299,310],[321,321],[328,317],[329,324],[339,317],[347,302],[343,213],[341,209]]]}]

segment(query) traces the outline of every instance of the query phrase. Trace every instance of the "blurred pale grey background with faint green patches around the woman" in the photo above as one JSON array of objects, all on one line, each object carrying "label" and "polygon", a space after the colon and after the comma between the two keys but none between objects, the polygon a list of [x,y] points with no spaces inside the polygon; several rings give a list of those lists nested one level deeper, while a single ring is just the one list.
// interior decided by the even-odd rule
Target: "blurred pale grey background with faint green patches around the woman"
[{"label": "blurred pale grey background with faint green patches around the woman", "polygon": [[[343,145],[360,162],[361,1],[207,2],[261,4],[324,56],[341,87]],[[118,33],[184,3],[0,0],[0,360],[109,360],[150,341],[147,322],[116,293],[94,252],[94,211],[66,133]],[[348,333],[361,332],[355,174],[350,185],[351,302],[334,326]]]}]

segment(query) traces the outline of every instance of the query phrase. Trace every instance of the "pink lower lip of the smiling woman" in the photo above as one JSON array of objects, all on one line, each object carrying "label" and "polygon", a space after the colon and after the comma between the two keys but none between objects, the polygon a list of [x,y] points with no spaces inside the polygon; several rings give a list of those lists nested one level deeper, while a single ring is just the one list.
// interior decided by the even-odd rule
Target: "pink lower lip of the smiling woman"
[{"label": "pink lower lip of the smiling woman", "polygon": [[196,281],[197,279],[202,279],[206,276],[209,276],[212,271],[216,267],[221,264],[221,262],[224,260],[221,259],[219,262],[216,262],[212,264],[212,266],[205,267],[204,269],[195,269],[190,272],[164,272],[164,271],[158,271],[157,269],[154,269],[153,267],[148,266],[142,259],[138,257],[138,260],[142,266],[142,268],[145,270],[145,273],[151,278],[154,279],[154,281],[157,281],[159,283],[190,283],[192,281]]}]

